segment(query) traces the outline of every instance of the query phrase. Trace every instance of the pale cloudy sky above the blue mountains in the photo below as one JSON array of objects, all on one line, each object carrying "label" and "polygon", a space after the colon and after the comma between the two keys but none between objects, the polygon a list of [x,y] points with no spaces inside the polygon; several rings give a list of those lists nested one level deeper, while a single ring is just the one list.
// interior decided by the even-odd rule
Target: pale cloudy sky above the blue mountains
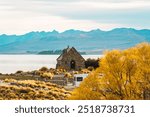
[{"label": "pale cloudy sky above the blue mountains", "polygon": [[0,0],[0,34],[150,29],[150,0]]}]

